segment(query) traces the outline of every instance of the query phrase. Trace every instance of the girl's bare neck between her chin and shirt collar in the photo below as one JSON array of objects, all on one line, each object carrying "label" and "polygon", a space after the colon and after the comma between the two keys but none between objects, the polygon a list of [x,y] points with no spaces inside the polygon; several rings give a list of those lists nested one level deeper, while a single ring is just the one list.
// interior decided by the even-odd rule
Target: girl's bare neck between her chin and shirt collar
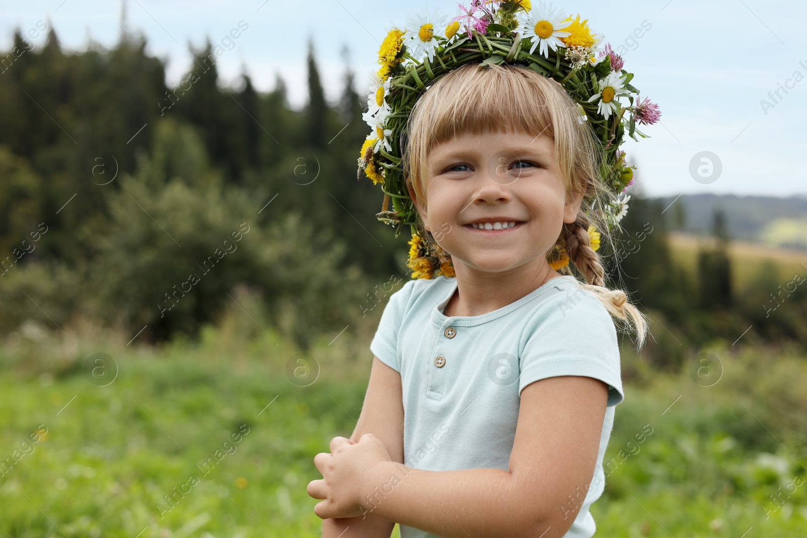
[{"label": "girl's bare neck between her chin and shirt collar", "polygon": [[456,265],[457,290],[443,309],[448,317],[470,317],[499,310],[562,276],[546,264],[524,264],[511,272],[484,273]]}]

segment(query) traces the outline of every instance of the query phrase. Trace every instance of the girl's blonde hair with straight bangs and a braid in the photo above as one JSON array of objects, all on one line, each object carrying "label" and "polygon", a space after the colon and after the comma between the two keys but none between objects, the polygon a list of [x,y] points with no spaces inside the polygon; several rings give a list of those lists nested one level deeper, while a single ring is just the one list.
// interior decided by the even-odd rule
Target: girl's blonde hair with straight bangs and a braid
[{"label": "girl's blonde hair with straight bangs and a braid", "polygon": [[[428,207],[425,194],[429,152],[437,144],[464,133],[502,131],[536,137],[546,132],[554,139],[558,172],[566,193],[571,196],[582,192],[583,202],[575,222],[563,223],[560,236],[547,255],[562,246],[586,281],[579,284],[580,288],[598,298],[608,313],[625,321],[625,325],[629,319],[641,347],[647,330],[645,315],[627,301],[624,291],[604,286],[600,256],[589,243],[589,224],[600,231],[601,241],[613,241],[604,233],[608,227],[601,211],[614,198],[600,177],[598,163],[602,148],[591,127],[581,121],[577,104],[557,81],[531,69],[506,64],[466,64],[438,78],[413,106],[406,129],[408,141],[402,140],[403,174],[408,186],[419,202]],[[592,210],[591,215],[586,214],[586,209]],[[424,230],[420,214],[417,228],[429,247],[441,258],[450,259],[432,234]],[[568,265],[559,272],[571,275]]]}]

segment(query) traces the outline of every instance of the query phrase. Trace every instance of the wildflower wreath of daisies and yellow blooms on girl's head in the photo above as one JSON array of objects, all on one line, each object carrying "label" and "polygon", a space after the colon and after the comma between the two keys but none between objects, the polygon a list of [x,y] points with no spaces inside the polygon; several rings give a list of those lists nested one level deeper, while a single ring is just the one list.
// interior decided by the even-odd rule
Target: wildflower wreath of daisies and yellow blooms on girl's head
[{"label": "wildflower wreath of daisies and yellow blooms on girl's head", "polygon": [[[411,31],[399,27],[388,31],[378,49],[381,68],[370,75],[367,111],[362,116],[372,131],[362,144],[358,179],[363,171],[374,185],[381,185],[384,199],[376,217],[396,226],[395,237],[404,224],[412,227],[407,265],[413,278],[432,278],[437,272],[455,276],[449,254],[437,244],[426,244],[417,233],[416,207],[403,177],[408,117],[426,85],[438,77],[468,63],[519,64],[558,81],[577,102],[581,121],[592,127],[604,150],[600,175],[616,194],[600,209],[609,231],[628,211],[630,195],[625,190],[633,183],[636,168],[619,149],[625,129],[633,140],[638,141],[636,135],[647,138],[637,124],[655,123],[661,115],[659,106],[641,98],[630,84],[633,73],[622,69],[622,58],[610,44],[600,48],[604,36],[592,33],[580,15],[563,19],[551,4],[539,1],[533,9],[530,0],[470,0],[469,5],[458,6],[461,15],[453,19],[446,20],[435,10],[410,17]],[[588,234],[596,250],[600,232],[592,225]],[[553,269],[568,273],[570,259],[562,239],[547,261]]]}]

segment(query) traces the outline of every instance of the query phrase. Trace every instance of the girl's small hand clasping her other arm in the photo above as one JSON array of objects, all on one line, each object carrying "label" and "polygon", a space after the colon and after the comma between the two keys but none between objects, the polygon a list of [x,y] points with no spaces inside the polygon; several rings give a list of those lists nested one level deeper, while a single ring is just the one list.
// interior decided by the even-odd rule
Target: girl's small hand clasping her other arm
[{"label": "girl's small hand clasping her other arm", "polygon": [[322,519],[349,518],[366,512],[362,508],[362,494],[370,469],[381,461],[392,461],[387,447],[372,433],[366,433],[358,443],[345,437],[331,440],[331,453],[319,453],[314,465],[322,473],[321,480],[308,482],[307,492],[313,498],[324,498],[316,503],[314,513]]}]

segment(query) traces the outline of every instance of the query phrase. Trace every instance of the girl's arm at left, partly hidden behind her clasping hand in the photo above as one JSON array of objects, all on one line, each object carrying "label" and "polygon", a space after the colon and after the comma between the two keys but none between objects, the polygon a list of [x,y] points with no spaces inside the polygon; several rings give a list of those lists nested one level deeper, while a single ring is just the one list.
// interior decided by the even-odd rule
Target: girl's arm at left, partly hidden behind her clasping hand
[{"label": "girl's arm at left, partly hidden behind her clasping hand", "polygon": [[[370,382],[362,405],[362,413],[350,440],[357,443],[366,433],[372,433],[387,447],[392,461],[403,463],[403,394],[401,376],[373,357]],[[322,538],[389,538],[395,520],[383,519],[372,513],[354,518],[323,519]],[[343,534],[344,532],[344,534]]]}]

